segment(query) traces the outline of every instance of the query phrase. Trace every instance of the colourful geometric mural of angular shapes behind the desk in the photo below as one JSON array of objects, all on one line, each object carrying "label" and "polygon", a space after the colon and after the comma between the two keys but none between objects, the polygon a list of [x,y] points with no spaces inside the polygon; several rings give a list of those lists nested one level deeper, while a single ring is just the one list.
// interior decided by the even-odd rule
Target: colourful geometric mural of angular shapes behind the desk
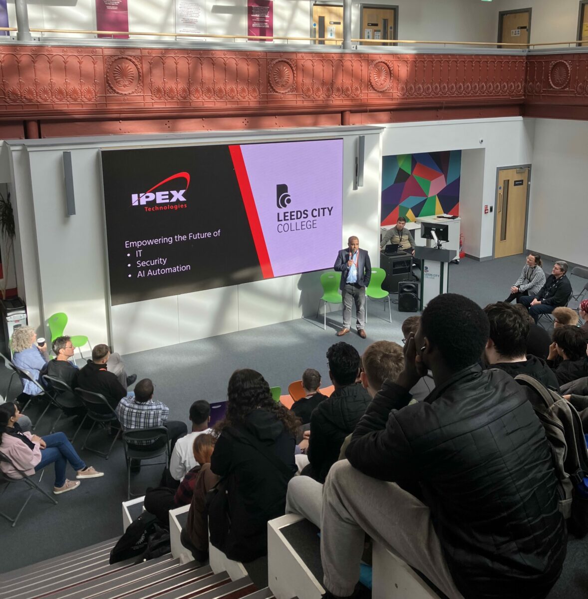
[{"label": "colourful geometric mural of angular shapes behind the desk", "polygon": [[461,150],[384,156],[381,224],[419,216],[459,216]]}]

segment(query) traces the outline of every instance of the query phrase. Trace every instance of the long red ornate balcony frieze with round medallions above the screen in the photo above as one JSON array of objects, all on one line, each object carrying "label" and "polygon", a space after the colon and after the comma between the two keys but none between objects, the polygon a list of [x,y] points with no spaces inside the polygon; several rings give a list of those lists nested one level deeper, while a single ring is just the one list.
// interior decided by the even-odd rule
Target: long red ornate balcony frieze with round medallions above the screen
[{"label": "long red ornate balcony frieze with round medallions above the screen", "polygon": [[522,104],[524,84],[523,56],[0,46],[0,119]]}]

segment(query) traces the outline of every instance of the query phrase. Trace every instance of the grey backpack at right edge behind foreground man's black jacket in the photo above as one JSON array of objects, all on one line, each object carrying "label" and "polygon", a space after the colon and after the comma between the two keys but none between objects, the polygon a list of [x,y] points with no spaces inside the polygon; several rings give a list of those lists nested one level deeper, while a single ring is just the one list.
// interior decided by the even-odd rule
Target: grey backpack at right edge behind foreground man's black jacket
[{"label": "grey backpack at right edge behind foreground man's black jacket", "polygon": [[527,374],[519,374],[514,380],[532,391],[529,401],[551,448],[559,511],[568,522],[568,530],[581,538],[588,533],[588,498],[581,492],[584,476],[588,476],[588,450],[580,415],[561,395]]}]

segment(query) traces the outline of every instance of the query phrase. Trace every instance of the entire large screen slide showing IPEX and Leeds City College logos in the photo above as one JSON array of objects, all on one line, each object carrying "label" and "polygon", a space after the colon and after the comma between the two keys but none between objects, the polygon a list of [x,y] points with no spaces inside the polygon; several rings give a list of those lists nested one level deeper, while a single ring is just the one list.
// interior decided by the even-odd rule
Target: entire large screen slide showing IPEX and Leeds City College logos
[{"label": "entire large screen slide showing IPEX and Leeds City College logos", "polygon": [[332,268],[343,140],[102,150],[111,305]]}]

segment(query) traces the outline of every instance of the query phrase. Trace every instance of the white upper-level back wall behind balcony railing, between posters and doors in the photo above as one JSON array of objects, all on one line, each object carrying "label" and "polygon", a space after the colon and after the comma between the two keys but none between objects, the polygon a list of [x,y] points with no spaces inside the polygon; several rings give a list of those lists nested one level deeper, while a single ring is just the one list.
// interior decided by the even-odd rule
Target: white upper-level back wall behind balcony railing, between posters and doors
[{"label": "white upper-level back wall behind balcony railing, between posters and doors", "polygon": [[[207,5],[208,33],[247,35],[247,0],[202,0],[202,2]],[[496,38],[498,16],[493,8],[495,3],[477,0],[390,0],[389,2],[371,0],[366,4],[398,6],[398,34],[401,39],[494,41]],[[274,0],[274,35],[308,37],[311,31],[312,5],[313,2],[310,0]],[[174,31],[174,0],[157,2],[129,0],[128,6],[130,31],[161,33]],[[351,15],[353,38],[360,37],[359,7],[360,2],[353,2]],[[29,25],[32,28],[90,31],[96,29],[95,0],[29,2],[28,11]],[[8,2],[8,18],[10,26],[16,27],[14,0]],[[56,34],[45,35],[59,37]],[[86,36],[63,34],[63,37]],[[137,39],[149,38],[138,36]]]}]

